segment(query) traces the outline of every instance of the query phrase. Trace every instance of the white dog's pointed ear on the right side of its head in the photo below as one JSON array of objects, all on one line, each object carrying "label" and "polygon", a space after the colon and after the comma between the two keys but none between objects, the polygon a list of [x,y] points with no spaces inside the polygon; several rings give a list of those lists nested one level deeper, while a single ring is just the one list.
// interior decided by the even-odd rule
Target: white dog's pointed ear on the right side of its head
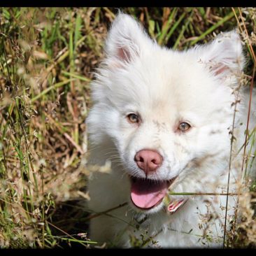
[{"label": "white dog's pointed ear on the right side of its head", "polygon": [[211,43],[198,50],[202,50],[199,57],[214,76],[240,76],[245,58],[241,39],[235,30],[219,34]]}]

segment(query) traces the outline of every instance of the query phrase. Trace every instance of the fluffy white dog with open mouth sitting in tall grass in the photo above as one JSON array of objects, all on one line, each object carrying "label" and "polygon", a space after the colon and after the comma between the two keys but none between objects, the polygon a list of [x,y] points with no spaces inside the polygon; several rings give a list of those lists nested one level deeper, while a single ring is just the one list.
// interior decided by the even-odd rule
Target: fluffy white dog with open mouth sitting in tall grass
[{"label": "fluffy white dog with open mouth sitting in tall grass", "polygon": [[[238,34],[178,52],[120,13],[105,50],[87,118],[88,206],[105,213],[92,219],[90,239],[118,247],[222,246],[227,197],[207,193],[227,193],[228,173],[229,192],[237,192],[241,173],[248,99],[238,90]],[[235,206],[229,196],[227,224]]]}]

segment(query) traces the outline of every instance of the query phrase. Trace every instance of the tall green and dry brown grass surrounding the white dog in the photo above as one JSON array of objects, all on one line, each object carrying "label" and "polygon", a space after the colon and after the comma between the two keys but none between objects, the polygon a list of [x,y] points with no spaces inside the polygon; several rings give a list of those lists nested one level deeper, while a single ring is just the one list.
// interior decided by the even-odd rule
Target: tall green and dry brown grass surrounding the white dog
[{"label": "tall green and dry brown grass surrounding the white dog", "polygon": [[[253,83],[256,8],[121,10],[176,50],[237,28],[248,59],[243,86]],[[87,221],[97,215],[90,217],[83,206],[90,198],[85,119],[90,80],[117,12],[0,8],[0,248],[101,246],[87,234]],[[228,247],[255,246],[253,199]]]}]

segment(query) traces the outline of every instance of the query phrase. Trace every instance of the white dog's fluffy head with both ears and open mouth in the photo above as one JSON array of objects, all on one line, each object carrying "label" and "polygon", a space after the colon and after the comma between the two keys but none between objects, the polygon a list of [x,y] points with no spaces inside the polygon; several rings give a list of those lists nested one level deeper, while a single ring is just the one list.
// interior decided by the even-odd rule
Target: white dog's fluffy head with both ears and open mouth
[{"label": "white dog's fluffy head with both ears and open mouth", "polygon": [[106,54],[92,84],[91,141],[111,137],[131,177],[134,205],[157,209],[173,181],[200,182],[209,164],[228,156],[241,42],[232,31],[175,52],[160,48],[128,15],[118,15]]}]

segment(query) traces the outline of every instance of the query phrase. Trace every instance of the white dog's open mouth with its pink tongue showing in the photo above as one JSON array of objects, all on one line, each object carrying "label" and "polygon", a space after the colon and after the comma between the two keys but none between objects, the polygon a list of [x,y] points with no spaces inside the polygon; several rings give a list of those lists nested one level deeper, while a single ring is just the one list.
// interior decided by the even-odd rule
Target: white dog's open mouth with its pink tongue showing
[{"label": "white dog's open mouth with its pink tongue showing", "polygon": [[139,208],[151,208],[166,194],[166,181],[131,179],[131,201]]}]

